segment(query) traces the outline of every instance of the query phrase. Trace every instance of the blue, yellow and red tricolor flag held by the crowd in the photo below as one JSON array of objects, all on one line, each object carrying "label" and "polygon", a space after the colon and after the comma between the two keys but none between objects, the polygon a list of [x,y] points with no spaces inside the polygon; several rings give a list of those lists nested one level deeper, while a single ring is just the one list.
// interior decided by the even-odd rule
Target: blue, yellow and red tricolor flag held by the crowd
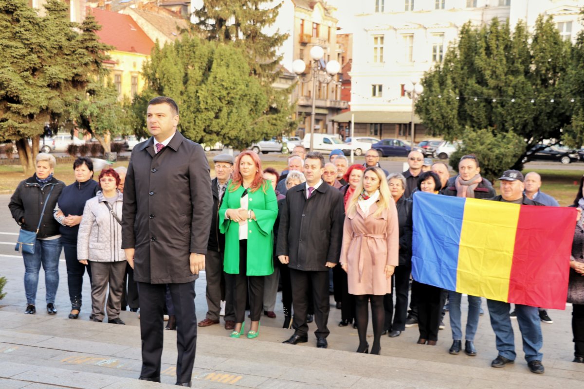
[{"label": "blue, yellow and red tricolor flag held by the crowd", "polygon": [[472,296],[565,309],[576,214],[415,192],[412,276]]}]

